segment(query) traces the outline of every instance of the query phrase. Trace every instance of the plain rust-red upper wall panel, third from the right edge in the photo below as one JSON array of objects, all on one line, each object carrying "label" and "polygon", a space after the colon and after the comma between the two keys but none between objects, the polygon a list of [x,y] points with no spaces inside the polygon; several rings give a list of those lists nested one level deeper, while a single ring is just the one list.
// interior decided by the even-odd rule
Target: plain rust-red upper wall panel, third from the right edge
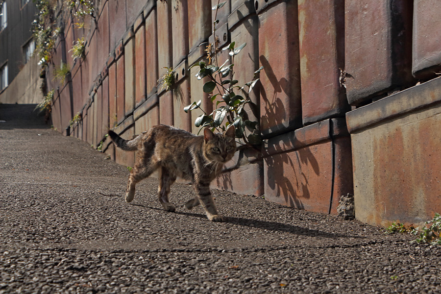
[{"label": "plain rust-red upper wall panel, third from the right edge", "polygon": [[349,110],[340,84],[344,68],[344,0],[298,5],[303,124],[341,117]]}]

